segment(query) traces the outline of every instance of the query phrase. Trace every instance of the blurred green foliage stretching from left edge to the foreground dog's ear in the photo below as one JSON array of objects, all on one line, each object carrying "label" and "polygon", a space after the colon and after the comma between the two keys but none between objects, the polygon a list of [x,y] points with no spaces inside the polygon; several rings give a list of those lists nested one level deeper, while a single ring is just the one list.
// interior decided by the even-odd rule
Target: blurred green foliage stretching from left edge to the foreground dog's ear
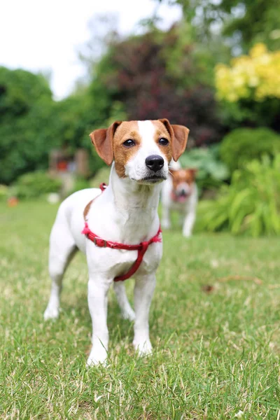
[{"label": "blurred green foliage stretching from left edge to the foreground dog's ear", "polygon": [[50,151],[65,145],[72,152],[89,151],[93,174],[104,166],[89,134],[107,127],[113,118],[125,119],[125,114],[119,102],[103,109],[99,93],[94,92],[93,99],[91,92],[83,90],[54,102],[43,76],[0,67],[0,183],[47,169]]}]

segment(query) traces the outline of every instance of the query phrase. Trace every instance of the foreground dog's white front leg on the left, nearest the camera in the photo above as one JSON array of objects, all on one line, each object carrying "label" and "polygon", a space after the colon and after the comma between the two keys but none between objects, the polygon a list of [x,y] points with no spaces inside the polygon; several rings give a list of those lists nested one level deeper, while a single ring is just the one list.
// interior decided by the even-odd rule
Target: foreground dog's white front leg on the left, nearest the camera
[{"label": "foreground dog's white front leg on the left, nearest the camera", "polygon": [[107,328],[107,293],[111,281],[100,276],[90,277],[88,282],[88,306],[92,317],[92,349],[87,365],[104,363],[107,358],[109,331]]}]

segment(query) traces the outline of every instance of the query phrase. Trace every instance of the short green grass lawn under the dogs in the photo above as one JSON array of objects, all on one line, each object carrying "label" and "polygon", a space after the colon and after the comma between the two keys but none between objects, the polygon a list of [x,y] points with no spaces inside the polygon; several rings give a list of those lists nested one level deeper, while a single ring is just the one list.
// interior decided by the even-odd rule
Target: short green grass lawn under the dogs
[{"label": "short green grass lawn under the dogs", "polygon": [[1,419],[279,419],[279,239],[165,232],[153,356],[134,355],[110,293],[109,365],[87,369],[83,255],[66,273],[59,321],[43,323],[56,210],[0,207]]}]

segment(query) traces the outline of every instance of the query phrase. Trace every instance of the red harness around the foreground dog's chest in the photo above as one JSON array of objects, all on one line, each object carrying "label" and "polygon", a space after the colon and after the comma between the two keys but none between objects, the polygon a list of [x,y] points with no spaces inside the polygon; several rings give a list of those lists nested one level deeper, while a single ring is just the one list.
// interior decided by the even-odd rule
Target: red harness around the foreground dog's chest
[{"label": "red harness around the foreground dog's chest", "polygon": [[[106,184],[102,183],[100,185],[100,189],[102,192],[106,189]],[[100,238],[98,235],[93,233],[90,228],[87,225],[87,222],[85,221],[85,228],[83,229],[83,235],[87,237],[87,239],[90,239],[94,243],[94,245],[99,246],[99,248],[113,248],[113,249],[125,249],[127,251],[138,251],[137,260],[134,262],[132,267],[128,270],[126,274],[123,274],[123,276],[117,276],[115,277],[114,281],[124,281],[126,279],[129,279],[135,272],[137,272],[137,269],[139,269],[139,265],[141,264],[144,255],[148,249],[148,246],[153,244],[153,242],[161,242],[162,238],[160,237],[160,233],[162,232],[161,228],[158,229],[158,233],[152,237],[149,241],[143,241],[140,242],[140,244],[137,245],[127,245],[127,244],[120,244],[119,242],[113,242],[113,241],[105,241],[104,239]]]}]

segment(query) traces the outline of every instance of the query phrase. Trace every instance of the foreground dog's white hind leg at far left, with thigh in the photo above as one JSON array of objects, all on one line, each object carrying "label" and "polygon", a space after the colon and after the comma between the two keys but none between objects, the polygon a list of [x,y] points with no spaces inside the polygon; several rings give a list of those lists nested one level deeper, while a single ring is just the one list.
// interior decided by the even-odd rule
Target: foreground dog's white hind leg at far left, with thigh
[{"label": "foreground dog's white hind leg at far left, with thigh", "polygon": [[49,273],[52,279],[50,300],[44,319],[55,319],[59,315],[59,300],[64,272],[77,251],[75,242],[66,224],[57,218],[50,234]]}]

